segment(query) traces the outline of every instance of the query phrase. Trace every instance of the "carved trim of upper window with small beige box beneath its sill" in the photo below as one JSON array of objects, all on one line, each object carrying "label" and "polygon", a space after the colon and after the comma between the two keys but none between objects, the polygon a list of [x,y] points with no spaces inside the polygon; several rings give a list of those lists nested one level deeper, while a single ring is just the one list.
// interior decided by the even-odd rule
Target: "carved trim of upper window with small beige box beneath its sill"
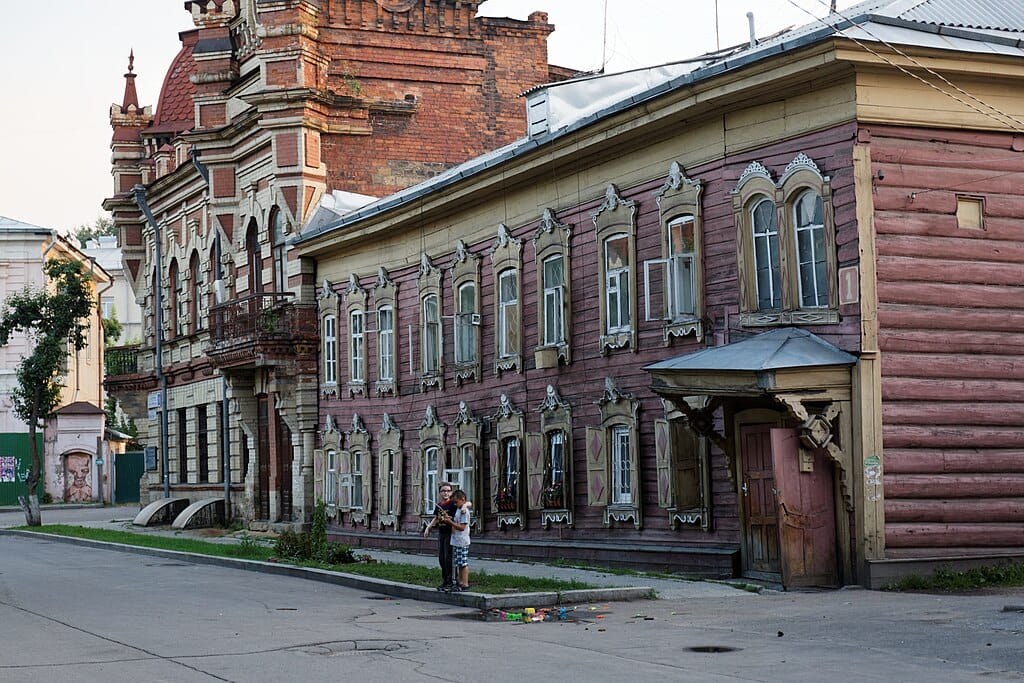
[{"label": "carved trim of upper window with small beige box beneath its sill", "polygon": [[[571,239],[572,228],[559,221],[555,217],[555,212],[545,209],[541,217],[537,233],[534,236],[534,253],[537,263],[537,310],[538,310],[538,336],[537,350],[534,352],[537,368],[555,368],[558,362],[568,365],[571,362],[569,340],[572,338],[571,332],[571,311],[572,296],[570,283],[571,278]],[[562,288],[561,288],[561,328],[562,339],[554,343],[546,343],[546,329],[548,326],[547,290],[544,282],[544,264],[549,258],[554,256],[562,257]]]}]

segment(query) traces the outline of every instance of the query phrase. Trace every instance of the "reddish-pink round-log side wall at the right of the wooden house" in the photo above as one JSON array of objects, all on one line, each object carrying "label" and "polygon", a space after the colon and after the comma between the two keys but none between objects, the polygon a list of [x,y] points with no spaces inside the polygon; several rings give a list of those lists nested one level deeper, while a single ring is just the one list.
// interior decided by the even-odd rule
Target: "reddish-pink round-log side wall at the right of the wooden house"
[{"label": "reddish-pink round-log side wall at the right of the wooden house", "polygon": [[[887,556],[1024,546],[1024,158],[872,126]],[[957,226],[957,195],[984,229]]]}]

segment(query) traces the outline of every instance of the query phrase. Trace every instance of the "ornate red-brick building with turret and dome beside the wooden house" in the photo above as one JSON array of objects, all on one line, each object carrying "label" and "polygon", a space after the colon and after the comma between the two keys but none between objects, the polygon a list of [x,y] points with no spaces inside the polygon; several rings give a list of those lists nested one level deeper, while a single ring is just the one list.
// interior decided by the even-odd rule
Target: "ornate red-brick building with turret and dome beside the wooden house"
[{"label": "ornate red-brick building with turret and dome beside the wooden house", "polygon": [[104,208],[144,333],[106,385],[158,450],[144,502],[309,520],[314,279],[288,241],[523,134],[517,95],[568,72],[548,65],[545,13],[477,16],[482,1],[185,2],[196,28],[156,113],[129,60]]}]

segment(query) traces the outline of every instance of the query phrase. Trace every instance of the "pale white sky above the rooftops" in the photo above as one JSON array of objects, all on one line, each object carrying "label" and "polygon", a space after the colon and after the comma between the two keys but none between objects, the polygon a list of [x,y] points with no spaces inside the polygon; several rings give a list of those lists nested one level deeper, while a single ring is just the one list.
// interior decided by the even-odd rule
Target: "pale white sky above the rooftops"
[{"label": "pale white sky above the rooftops", "polygon": [[[843,10],[854,0],[839,0]],[[607,7],[607,40],[603,16]],[[716,41],[716,7],[718,41]],[[552,63],[617,72],[695,56],[827,14],[827,0],[486,0],[480,14],[543,9]],[[181,0],[23,0],[0,22],[0,215],[71,229],[103,215],[112,193],[110,106],[135,51],[139,103],[156,109],[179,31]]]}]

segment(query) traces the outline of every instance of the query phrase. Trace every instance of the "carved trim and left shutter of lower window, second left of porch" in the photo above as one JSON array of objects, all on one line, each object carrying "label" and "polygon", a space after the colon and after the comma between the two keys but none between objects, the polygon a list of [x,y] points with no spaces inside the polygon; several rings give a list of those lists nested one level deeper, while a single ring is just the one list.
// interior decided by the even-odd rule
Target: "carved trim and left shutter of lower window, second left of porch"
[{"label": "carved trim and left shutter of lower window, second left of porch", "polygon": [[[640,453],[639,453],[639,412],[640,401],[633,394],[621,391],[615,381],[604,380],[604,393],[597,401],[601,411],[601,425],[587,427],[587,503],[604,508],[604,525],[611,522],[632,521],[635,528],[643,523],[643,502],[641,500]],[[625,427],[629,433],[630,486],[629,503],[610,501],[611,482],[611,433],[615,427]]]}]

